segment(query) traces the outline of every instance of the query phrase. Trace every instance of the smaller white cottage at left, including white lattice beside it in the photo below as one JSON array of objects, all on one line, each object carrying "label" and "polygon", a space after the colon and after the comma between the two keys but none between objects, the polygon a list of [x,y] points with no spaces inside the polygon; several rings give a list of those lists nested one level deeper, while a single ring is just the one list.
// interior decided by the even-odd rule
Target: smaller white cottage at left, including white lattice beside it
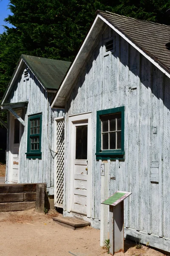
[{"label": "smaller white cottage at left, including white lattice beside it", "polygon": [[56,206],[63,200],[64,111],[50,104],[70,64],[21,55],[0,106],[8,111],[6,183],[43,182],[54,195],[55,176]]}]

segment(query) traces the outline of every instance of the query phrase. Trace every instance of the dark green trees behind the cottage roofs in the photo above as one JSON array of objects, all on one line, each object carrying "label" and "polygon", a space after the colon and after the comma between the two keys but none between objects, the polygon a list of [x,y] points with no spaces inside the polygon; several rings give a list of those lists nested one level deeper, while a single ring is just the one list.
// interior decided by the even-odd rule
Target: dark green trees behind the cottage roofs
[{"label": "dark green trees behind the cottage roofs", "polygon": [[97,9],[158,23],[170,0],[10,0],[13,15],[6,18],[0,35],[0,98],[20,55],[72,61],[85,38]]}]

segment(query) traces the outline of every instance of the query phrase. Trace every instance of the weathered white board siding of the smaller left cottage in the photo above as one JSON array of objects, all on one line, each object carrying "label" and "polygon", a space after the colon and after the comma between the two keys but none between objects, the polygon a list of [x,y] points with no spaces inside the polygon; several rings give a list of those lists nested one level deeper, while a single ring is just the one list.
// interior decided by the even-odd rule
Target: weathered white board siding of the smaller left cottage
[{"label": "weathered white board siding of the smaller left cottage", "polygon": [[[16,82],[16,86],[10,93],[8,102],[28,101],[28,108],[23,110],[23,119],[26,126],[22,126],[23,135],[19,150],[19,183],[47,183],[47,188],[54,187],[55,153],[49,150],[47,136],[51,148],[54,150],[54,118],[63,116],[64,111],[51,109],[50,103],[53,97],[54,93],[48,93],[30,70],[29,78],[24,79],[24,74],[21,74],[20,79]],[[36,113],[42,113],[42,159],[26,159],[28,116]]]}]

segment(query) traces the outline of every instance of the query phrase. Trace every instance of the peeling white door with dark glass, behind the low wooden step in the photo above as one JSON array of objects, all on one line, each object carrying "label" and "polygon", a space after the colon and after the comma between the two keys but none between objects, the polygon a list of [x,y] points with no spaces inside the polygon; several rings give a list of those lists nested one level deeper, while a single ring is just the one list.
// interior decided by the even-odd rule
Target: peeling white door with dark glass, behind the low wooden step
[{"label": "peeling white door with dark glass, behind the low wooden step", "polygon": [[71,134],[71,211],[91,217],[91,114],[74,116]]}]

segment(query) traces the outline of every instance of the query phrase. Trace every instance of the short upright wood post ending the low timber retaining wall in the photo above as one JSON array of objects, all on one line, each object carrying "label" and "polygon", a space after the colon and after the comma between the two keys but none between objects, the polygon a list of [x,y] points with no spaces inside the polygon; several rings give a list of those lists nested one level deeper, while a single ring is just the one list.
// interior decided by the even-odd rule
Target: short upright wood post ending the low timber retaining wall
[{"label": "short upright wood post ending the low timber retaining wall", "polygon": [[36,212],[44,212],[44,203],[45,203],[45,192],[44,184],[37,183],[37,196],[36,196]]}]

